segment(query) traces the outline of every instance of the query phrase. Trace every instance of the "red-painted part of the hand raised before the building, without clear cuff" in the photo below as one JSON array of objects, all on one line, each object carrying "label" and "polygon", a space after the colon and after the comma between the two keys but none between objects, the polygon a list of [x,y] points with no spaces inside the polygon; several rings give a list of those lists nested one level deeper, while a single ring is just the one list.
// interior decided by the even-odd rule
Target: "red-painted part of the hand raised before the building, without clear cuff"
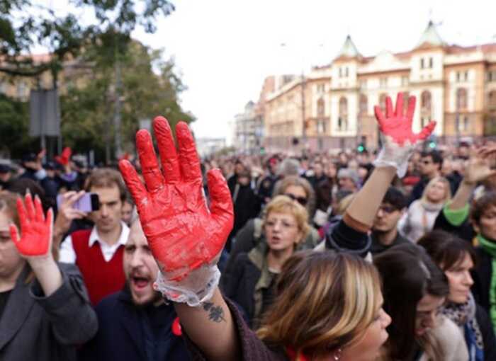
[{"label": "red-painted part of the hand raised before the building, without clear cuff", "polygon": [[406,115],[403,112],[403,93],[398,93],[395,111],[393,111],[391,98],[389,96],[385,98],[385,118],[378,105],[374,107],[374,111],[381,132],[385,137],[391,137],[393,141],[400,146],[407,141],[410,141],[410,144],[413,145],[419,140],[426,139],[432,133],[434,127],[436,127],[436,122],[432,121],[429,122],[419,134],[412,132],[413,113],[415,113],[415,96],[410,96],[408,99]]}]

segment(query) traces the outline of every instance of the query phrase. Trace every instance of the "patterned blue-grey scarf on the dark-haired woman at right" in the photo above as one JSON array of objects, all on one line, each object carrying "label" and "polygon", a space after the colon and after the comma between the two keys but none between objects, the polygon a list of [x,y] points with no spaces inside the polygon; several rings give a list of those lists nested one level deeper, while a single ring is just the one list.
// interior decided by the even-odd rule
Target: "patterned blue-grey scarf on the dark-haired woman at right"
[{"label": "patterned blue-grey scarf on the dark-haired woman at right", "polygon": [[477,305],[470,293],[468,301],[464,304],[446,302],[441,313],[451,319],[458,327],[463,328],[465,342],[468,348],[469,361],[484,361],[484,340],[483,334],[475,318]]}]

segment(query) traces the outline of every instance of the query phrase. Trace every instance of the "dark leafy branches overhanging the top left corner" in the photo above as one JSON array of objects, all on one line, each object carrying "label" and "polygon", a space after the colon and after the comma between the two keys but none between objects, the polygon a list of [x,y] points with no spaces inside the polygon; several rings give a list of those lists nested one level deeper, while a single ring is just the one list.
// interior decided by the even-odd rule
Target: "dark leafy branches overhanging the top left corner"
[{"label": "dark leafy branches overhanging the top left corner", "polygon": [[[77,57],[89,41],[106,35],[107,41],[118,45],[118,53],[125,54],[137,26],[154,33],[157,18],[174,11],[167,0],[143,0],[140,6],[129,0],[69,0],[69,4],[93,13],[96,23],[81,25],[73,14],[57,15],[32,0],[0,0],[0,72],[39,76],[50,69],[56,81],[62,62]],[[33,62],[33,45],[47,47],[50,61]]]}]

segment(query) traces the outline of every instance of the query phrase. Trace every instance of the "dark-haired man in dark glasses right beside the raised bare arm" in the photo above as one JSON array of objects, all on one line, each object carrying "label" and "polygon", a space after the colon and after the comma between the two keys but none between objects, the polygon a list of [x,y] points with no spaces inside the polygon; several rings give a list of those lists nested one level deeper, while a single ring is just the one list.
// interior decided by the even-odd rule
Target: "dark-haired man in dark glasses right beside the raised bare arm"
[{"label": "dark-haired man in dark glasses right beside the raised bare arm", "polygon": [[372,226],[370,251],[373,256],[397,244],[410,243],[398,231],[398,222],[406,205],[406,197],[398,188],[390,187],[385,193]]}]

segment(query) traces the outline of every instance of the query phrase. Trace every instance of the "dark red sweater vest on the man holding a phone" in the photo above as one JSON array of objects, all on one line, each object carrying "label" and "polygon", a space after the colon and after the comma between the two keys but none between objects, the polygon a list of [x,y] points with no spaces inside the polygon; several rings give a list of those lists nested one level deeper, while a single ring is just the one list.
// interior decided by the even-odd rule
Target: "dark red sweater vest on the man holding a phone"
[{"label": "dark red sweater vest on the man holding a phone", "polygon": [[89,246],[90,234],[91,229],[85,229],[75,231],[71,237],[72,247],[76,253],[76,265],[83,275],[91,304],[96,306],[103,297],[124,287],[124,246],[119,246],[111,260],[106,262],[101,253],[100,243],[95,242],[93,246]]}]

